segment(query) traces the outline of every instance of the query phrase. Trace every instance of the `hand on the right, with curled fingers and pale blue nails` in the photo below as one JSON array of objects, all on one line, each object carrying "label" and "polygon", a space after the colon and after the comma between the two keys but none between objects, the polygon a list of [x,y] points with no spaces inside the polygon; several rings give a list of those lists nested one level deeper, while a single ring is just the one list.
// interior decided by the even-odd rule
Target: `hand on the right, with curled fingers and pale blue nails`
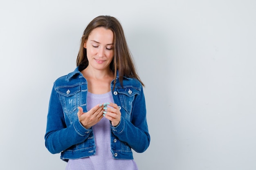
[{"label": "hand on the right, with curled fingers and pale blue nails", "polygon": [[103,116],[111,121],[112,126],[117,126],[121,119],[119,107],[115,103],[110,103],[108,106],[111,107],[107,107],[105,111],[103,111]]}]

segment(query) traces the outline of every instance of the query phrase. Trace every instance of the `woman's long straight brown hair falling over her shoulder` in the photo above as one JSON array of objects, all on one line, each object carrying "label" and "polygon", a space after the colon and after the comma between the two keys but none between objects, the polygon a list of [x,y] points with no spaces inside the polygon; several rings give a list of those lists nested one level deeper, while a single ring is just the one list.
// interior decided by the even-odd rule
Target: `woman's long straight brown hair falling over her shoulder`
[{"label": "woman's long straight brown hair falling over her shoulder", "polygon": [[124,36],[124,30],[120,22],[112,16],[100,15],[94,18],[85,28],[85,30],[83,31],[83,36],[81,38],[79,53],[76,58],[76,66],[79,66],[81,64],[84,65],[84,68],[88,66],[86,49],[83,47],[83,45],[85,41],[88,40],[88,36],[92,32],[92,30],[97,27],[110,29],[114,34],[114,57],[112,62],[110,63],[110,70],[115,75],[114,87],[116,83],[117,70],[119,71],[119,81],[121,86],[123,86],[124,76],[136,78],[144,86],[137,74],[135,64],[130,54],[130,50],[128,49],[126,38]]}]

